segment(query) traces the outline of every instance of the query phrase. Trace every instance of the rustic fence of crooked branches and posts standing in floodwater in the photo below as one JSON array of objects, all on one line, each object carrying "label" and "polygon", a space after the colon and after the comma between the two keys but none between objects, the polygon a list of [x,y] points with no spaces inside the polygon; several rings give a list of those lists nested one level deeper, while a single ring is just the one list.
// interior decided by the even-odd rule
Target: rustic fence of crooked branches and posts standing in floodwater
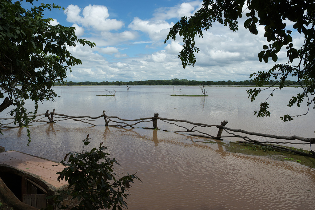
[{"label": "rustic fence of crooked branches and posts standing in floodwater", "polygon": [[[152,122],[152,126],[153,126],[152,129],[158,129],[157,121],[161,120],[163,122],[173,124],[173,125],[177,126],[178,128],[182,128],[182,130],[173,131],[175,133],[188,132],[188,133],[193,133],[193,134],[190,134],[193,136],[200,136],[200,137],[204,137],[204,138],[217,139],[217,140],[223,140],[222,138],[237,137],[237,138],[243,139],[244,141],[240,141],[243,143],[253,143],[253,144],[257,144],[257,145],[268,146],[268,147],[271,147],[273,149],[277,149],[280,151],[289,151],[289,152],[293,152],[293,153],[304,155],[304,156],[314,156],[315,157],[315,152],[311,150],[311,145],[315,143],[315,138],[304,138],[304,137],[300,137],[300,136],[278,136],[278,135],[272,135],[272,134],[248,132],[248,131],[244,131],[244,130],[240,130],[240,129],[232,129],[232,128],[225,127],[226,124],[228,123],[228,121],[221,122],[221,125],[215,125],[215,124],[208,125],[205,123],[195,123],[195,122],[190,122],[187,120],[178,120],[178,119],[175,120],[175,119],[163,118],[163,117],[159,117],[158,113],[155,113],[153,117],[145,117],[145,118],[129,120],[129,119],[122,119],[122,118],[117,117],[117,116],[107,116],[105,111],[103,111],[102,115],[97,116],[97,117],[69,116],[69,115],[65,115],[65,114],[55,113],[55,109],[50,113],[49,113],[49,110],[47,110],[46,113],[37,114],[35,118],[40,117],[40,116],[43,116],[43,117],[41,117],[39,119],[32,119],[32,121],[30,123],[32,123],[32,122],[52,123],[52,122],[59,122],[59,121],[64,121],[64,120],[74,120],[74,121],[84,122],[84,123],[88,123],[90,125],[96,126],[92,122],[95,121],[96,119],[104,118],[105,126],[120,127],[120,128],[124,128],[124,127],[135,128],[134,126],[141,123],[141,122]],[[28,117],[33,117],[33,115],[28,116]],[[43,120],[45,117],[47,117],[48,121]],[[0,118],[0,120],[12,120],[12,119],[14,119],[14,118],[13,117]],[[117,124],[109,124],[110,122],[114,122]],[[190,124],[193,127],[189,129],[183,125],[179,125],[177,122]],[[16,123],[14,124],[14,126],[10,126],[10,124],[13,124],[13,123],[14,123],[14,121],[8,122],[6,124],[1,124],[0,129],[19,127],[19,126],[15,125]],[[200,127],[200,128],[216,127],[216,128],[219,128],[219,131],[218,131],[216,136],[213,136],[213,135],[210,135],[209,133],[205,133],[203,131],[197,130],[198,127]],[[229,135],[222,136],[223,130],[226,131],[226,133],[228,133]],[[236,134],[236,133],[241,133],[242,135]],[[282,140],[287,140],[287,141],[281,141],[281,142],[279,142],[279,141],[258,141],[258,140],[251,139],[248,136],[243,136],[243,134],[247,134],[247,135],[251,135],[251,136],[266,137],[266,138],[270,138],[270,139],[282,139]],[[292,142],[292,140],[299,140],[300,142]],[[289,141],[291,141],[291,142],[289,142]],[[284,147],[284,146],[271,145],[271,143],[272,144],[299,144],[299,145],[308,145],[309,144],[310,150],[309,150],[309,153],[305,153],[302,151],[289,149],[289,148]]]}]

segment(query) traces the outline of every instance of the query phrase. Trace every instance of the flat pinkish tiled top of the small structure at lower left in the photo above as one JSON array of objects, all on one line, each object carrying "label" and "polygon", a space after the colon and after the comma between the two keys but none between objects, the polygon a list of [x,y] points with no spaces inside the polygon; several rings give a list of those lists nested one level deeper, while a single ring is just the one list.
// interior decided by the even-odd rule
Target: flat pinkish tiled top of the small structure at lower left
[{"label": "flat pinkish tiled top of the small structure at lower left", "polygon": [[60,180],[60,182],[57,181],[58,175],[56,173],[62,171],[64,166],[53,166],[57,165],[58,163],[42,158],[10,150],[0,153],[0,164],[6,164],[35,174],[56,188],[68,184],[68,182],[65,180]]}]

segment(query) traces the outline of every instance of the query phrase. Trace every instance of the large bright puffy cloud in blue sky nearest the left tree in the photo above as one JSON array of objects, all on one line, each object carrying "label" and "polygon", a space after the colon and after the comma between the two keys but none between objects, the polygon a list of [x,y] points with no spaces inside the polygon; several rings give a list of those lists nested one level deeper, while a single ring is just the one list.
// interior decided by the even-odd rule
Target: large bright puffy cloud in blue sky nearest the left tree
[{"label": "large bright puffy cloud in blue sky nearest the left tree", "polygon": [[67,9],[67,21],[85,27],[92,27],[97,31],[118,30],[124,26],[124,23],[120,20],[108,19],[108,9],[103,5],[90,4],[86,6],[82,11],[83,17],[80,15],[81,9],[77,5],[71,4]]}]

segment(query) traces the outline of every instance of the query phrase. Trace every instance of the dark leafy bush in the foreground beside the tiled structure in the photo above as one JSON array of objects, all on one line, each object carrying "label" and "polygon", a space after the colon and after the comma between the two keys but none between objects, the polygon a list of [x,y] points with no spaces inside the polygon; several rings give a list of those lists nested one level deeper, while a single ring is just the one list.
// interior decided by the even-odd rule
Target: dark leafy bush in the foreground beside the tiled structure
[{"label": "dark leafy bush in the foreground beside the tiled structure", "polygon": [[[65,190],[59,190],[53,198],[54,204],[60,209],[68,209],[69,206],[63,203],[69,196],[77,199],[79,204],[71,209],[77,210],[98,210],[98,209],[122,209],[127,208],[124,199],[129,196],[128,188],[134,179],[139,179],[136,174],[128,174],[116,179],[113,172],[114,164],[118,161],[108,157],[104,152],[107,148],[100,144],[99,148],[93,148],[91,151],[84,152],[84,145],[90,143],[91,138],[87,135],[83,139],[82,152],[69,152],[60,162],[65,168],[58,172],[58,181],[65,179],[69,186]],[[67,157],[69,156],[69,159]],[[119,164],[118,164],[119,165]],[[140,179],[139,179],[140,180]],[[50,209],[52,206],[48,207]]]}]

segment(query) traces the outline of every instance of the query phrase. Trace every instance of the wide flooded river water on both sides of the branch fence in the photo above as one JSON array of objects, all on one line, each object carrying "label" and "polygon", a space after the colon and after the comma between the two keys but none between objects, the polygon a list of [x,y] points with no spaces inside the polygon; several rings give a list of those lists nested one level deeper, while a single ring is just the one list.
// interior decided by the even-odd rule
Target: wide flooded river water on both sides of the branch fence
[{"label": "wide flooded river water on both sides of the branch fence", "polygon": [[[116,90],[115,97],[105,89]],[[175,90],[177,88],[175,87]],[[303,114],[306,106],[288,108],[287,101],[298,88],[285,88],[268,99],[271,116],[256,118],[253,112],[268,94],[257,101],[247,99],[244,87],[206,87],[209,97],[173,97],[171,94],[201,94],[198,87],[60,86],[60,98],[43,102],[38,113],[55,108],[56,113],[72,116],[108,116],[124,119],[160,117],[189,120],[252,132],[313,138],[313,110],[292,122],[282,122],[284,114]],[[29,111],[32,103],[26,102]],[[9,111],[9,109],[8,109]],[[7,112],[8,112],[7,111]],[[5,111],[0,117],[6,117]],[[8,117],[8,116],[7,116]],[[205,144],[202,138],[163,130],[147,130],[152,122],[137,128],[105,127],[104,119],[90,126],[82,122],[37,123],[30,127],[31,144],[26,146],[26,129],[3,130],[0,145],[60,161],[68,151],[82,150],[81,140],[89,133],[93,139],[86,149],[104,142],[107,152],[119,160],[118,175],[135,173],[141,181],[130,188],[129,209],[313,209],[315,170],[295,162],[226,152],[224,145]],[[160,129],[179,130],[158,121]],[[216,135],[217,129],[208,133]],[[223,133],[224,134],[224,133]],[[264,140],[263,138],[256,138]],[[228,139],[238,140],[238,139]],[[225,140],[226,141],[226,140]],[[296,146],[307,149],[306,146]],[[313,148],[314,149],[314,148]]]}]

